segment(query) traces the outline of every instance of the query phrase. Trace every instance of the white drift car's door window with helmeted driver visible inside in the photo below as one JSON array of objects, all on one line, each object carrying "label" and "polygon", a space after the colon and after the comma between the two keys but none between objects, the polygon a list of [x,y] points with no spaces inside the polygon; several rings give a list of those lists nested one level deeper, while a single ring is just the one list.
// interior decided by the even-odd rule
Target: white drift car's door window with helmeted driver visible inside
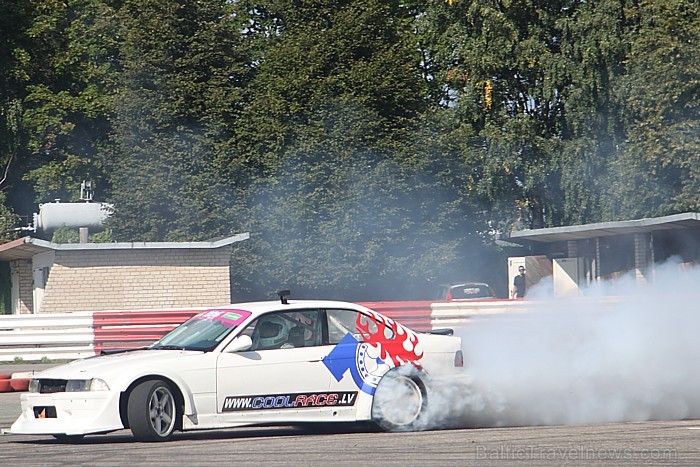
[{"label": "white drift car's door window with helmeted driver visible inside", "polygon": [[321,345],[319,316],[318,310],[269,313],[250,323],[243,334],[253,340],[253,351]]}]

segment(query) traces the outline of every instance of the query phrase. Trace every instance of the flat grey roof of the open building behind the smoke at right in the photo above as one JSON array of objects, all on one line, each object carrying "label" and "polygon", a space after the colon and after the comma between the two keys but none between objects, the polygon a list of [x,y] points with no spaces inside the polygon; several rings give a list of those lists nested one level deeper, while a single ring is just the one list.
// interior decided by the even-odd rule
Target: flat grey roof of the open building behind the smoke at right
[{"label": "flat grey roof of the open building behind the smoke at right", "polygon": [[551,227],[512,232],[508,241],[521,245],[553,243],[567,240],[585,240],[612,235],[658,232],[663,230],[700,228],[700,213],[686,212],[671,216],[629,221],[599,222],[596,224]]}]

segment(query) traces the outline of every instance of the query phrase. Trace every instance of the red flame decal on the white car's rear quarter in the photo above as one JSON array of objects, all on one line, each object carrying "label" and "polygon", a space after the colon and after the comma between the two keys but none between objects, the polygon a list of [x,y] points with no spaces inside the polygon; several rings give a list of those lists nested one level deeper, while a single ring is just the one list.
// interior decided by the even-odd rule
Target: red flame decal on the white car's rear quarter
[{"label": "red flame decal on the white car's rear quarter", "polygon": [[[356,324],[364,341],[380,350],[382,360],[391,362],[392,366],[413,363],[420,368],[418,360],[423,357],[423,351],[417,349],[418,336],[416,333],[391,318],[374,313],[371,313],[370,316],[359,313]],[[371,332],[372,324],[376,324],[377,330],[375,332]],[[392,337],[387,338],[387,335]]]}]

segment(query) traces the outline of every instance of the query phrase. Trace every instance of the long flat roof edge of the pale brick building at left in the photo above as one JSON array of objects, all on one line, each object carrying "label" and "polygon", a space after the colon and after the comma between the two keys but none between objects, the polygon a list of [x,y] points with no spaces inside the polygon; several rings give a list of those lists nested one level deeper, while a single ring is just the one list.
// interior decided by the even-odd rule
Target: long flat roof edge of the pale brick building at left
[{"label": "long flat roof edge of the pale brick building at left", "polygon": [[124,242],[124,243],[52,243],[32,237],[22,237],[0,245],[0,261],[27,259],[45,251],[73,250],[138,250],[138,249],[216,249],[250,238],[248,232],[205,242]]}]

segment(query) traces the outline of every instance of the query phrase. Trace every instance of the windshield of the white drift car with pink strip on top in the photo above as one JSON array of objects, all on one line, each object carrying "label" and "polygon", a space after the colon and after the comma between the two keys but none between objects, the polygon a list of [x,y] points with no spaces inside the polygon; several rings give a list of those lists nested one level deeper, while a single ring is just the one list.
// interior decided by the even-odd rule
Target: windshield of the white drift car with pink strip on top
[{"label": "windshield of the white drift car with pink strip on top", "polygon": [[151,349],[213,350],[250,312],[210,310],[199,313],[153,344]]}]

